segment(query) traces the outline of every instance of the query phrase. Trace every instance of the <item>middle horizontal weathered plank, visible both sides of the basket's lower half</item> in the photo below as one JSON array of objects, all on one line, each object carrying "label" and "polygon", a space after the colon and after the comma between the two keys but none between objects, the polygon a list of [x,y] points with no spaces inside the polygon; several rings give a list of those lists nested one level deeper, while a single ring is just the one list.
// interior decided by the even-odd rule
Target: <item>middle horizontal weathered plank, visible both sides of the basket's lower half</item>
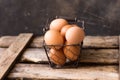
[{"label": "middle horizontal weathered plank, visible both sides of the basket's lower half", "polygon": [[[0,55],[6,48],[0,48]],[[83,49],[80,62],[118,64],[118,49]],[[43,48],[27,48],[21,57],[21,62],[47,63]]]}]

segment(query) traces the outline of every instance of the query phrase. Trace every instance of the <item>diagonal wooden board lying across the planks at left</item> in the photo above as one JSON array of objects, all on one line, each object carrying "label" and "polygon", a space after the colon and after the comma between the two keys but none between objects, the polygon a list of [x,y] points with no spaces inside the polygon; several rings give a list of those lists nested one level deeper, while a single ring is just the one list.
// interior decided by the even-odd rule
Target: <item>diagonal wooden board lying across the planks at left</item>
[{"label": "diagonal wooden board lying across the planks at left", "polygon": [[0,80],[4,79],[13,67],[32,35],[32,33],[20,34],[10,47],[2,53],[0,56]]}]

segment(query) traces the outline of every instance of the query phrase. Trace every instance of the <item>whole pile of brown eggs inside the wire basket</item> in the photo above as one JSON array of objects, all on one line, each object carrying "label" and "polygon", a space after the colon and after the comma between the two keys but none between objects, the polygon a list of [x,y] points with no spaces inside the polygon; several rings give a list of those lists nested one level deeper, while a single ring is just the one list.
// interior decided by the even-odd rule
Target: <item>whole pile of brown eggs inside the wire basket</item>
[{"label": "whole pile of brown eggs inside the wire basket", "polygon": [[77,60],[80,54],[80,46],[73,46],[72,44],[79,44],[83,41],[84,30],[76,24],[69,24],[67,20],[62,18],[53,20],[49,28],[44,35],[44,40],[46,45],[52,45],[49,46],[50,60],[57,65],[64,65],[66,59]]}]

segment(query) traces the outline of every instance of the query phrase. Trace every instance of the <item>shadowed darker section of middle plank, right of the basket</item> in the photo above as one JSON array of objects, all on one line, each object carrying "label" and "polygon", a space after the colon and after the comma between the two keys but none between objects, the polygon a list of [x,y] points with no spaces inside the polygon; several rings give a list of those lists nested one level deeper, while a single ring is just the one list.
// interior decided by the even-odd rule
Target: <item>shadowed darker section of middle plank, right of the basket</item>
[{"label": "shadowed darker section of middle plank, right of the basket", "polygon": [[80,62],[118,64],[118,49],[85,49],[81,53]]}]

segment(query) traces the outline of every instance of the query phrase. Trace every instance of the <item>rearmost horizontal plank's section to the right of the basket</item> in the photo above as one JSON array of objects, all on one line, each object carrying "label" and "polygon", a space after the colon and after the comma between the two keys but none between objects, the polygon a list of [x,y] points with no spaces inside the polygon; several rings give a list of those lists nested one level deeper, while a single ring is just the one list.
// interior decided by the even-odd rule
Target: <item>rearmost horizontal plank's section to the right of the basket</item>
[{"label": "rearmost horizontal plank's section to the right of the basket", "polygon": [[85,48],[118,48],[118,36],[87,36]]}]

